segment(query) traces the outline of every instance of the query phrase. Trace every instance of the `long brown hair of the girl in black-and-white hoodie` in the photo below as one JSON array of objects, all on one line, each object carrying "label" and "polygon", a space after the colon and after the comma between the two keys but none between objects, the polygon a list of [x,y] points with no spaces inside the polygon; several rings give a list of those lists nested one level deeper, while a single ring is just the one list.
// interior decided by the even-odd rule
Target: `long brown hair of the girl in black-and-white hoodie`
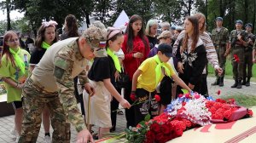
[{"label": "long brown hair of the girl in black-and-white hoodie", "polygon": [[[198,19],[195,16],[189,16],[186,19],[189,20],[193,26],[193,33],[191,36],[191,39],[192,39],[191,52],[194,52],[196,43],[198,42],[198,39],[199,39],[199,23],[198,23]],[[188,49],[188,42],[189,42],[189,35],[188,33],[186,33],[183,39],[182,51]]]}]

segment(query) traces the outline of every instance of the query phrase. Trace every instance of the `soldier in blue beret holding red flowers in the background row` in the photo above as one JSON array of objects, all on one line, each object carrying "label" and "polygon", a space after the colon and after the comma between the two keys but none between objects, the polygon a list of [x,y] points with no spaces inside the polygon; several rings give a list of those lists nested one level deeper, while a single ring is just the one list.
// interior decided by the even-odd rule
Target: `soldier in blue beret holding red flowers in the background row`
[{"label": "soldier in blue beret holding red flowers in the background row", "polygon": [[247,31],[242,30],[242,21],[236,20],[236,30],[230,32],[230,47],[233,78],[235,83],[231,88],[241,89],[241,79],[243,77],[244,51],[247,47]]}]

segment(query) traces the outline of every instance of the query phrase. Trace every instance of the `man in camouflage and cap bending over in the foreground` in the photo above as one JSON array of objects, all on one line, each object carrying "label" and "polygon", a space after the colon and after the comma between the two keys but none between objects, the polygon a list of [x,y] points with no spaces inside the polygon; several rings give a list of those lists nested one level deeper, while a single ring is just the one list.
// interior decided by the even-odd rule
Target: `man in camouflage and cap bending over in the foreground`
[{"label": "man in camouflage and cap bending over in the foreground", "polygon": [[94,58],[94,51],[105,43],[106,31],[93,26],[82,37],[55,43],[45,52],[22,91],[24,118],[19,143],[37,141],[44,106],[50,111],[52,142],[70,142],[70,123],[79,132],[78,142],[93,141],[73,94],[73,77],[79,76],[84,89],[94,94],[84,69]]}]

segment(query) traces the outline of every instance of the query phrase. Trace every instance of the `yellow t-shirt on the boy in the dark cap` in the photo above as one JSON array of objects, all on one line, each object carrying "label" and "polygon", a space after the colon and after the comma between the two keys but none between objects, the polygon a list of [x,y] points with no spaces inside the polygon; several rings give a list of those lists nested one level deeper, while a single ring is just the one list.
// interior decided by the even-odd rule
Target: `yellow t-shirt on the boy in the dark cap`
[{"label": "yellow t-shirt on the boy in the dark cap", "polygon": [[[144,60],[142,65],[139,66],[139,70],[142,71],[142,74],[137,79],[137,89],[145,89],[148,92],[153,92],[156,88],[155,86],[155,67],[157,66],[154,58],[148,58]],[[166,63],[167,68],[170,70],[170,76],[172,77],[175,72],[172,70],[172,67],[169,63]],[[164,77],[164,71],[161,74],[160,81]]]}]

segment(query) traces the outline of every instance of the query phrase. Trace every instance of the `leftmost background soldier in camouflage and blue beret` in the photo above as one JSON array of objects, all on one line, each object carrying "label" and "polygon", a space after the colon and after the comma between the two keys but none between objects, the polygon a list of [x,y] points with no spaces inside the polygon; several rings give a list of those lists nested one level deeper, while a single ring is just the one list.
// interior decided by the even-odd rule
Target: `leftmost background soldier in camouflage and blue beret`
[{"label": "leftmost background soldier in camouflage and blue beret", "polygon": [[223,69],[221,75],[218,75],[218,72],[215,72],[216,80],[212,85],[224,86],[224,75],[225,75],[225,63],[226,63],[226,49],[229,48],[229,30],[223,27],[223,18],[216,18],[217,28],[212,30],[212,43],[218,54],[218,63],[219,66]]}]

